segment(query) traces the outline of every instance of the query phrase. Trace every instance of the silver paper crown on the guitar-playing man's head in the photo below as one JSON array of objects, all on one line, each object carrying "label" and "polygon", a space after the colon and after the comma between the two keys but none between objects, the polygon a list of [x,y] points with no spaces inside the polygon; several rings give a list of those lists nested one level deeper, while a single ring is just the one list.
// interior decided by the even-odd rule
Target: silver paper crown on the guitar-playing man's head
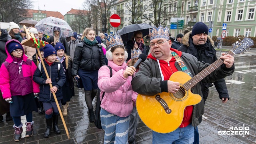
[{"label": "silver paper crown on the guitar-playing man's head", "polygon": [[158,28],[156,26],[153,26],[151,30],[149,29],[149,37],[150,40],[153,40],[155,38],[165,38],[169,40],[169,28],[167,26],[163,28],[161,25],[158,26]]}]

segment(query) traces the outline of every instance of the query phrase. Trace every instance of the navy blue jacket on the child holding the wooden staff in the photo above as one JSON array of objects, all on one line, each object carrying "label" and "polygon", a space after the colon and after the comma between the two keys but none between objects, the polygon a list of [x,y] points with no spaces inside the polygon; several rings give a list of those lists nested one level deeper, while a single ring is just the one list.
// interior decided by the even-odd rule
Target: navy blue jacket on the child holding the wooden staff
[{"label": "navy blue jacket on the child holding the wooden staff", "polygon": [[[58,64],[60,64],[60,70],[58,68]],[[50,92],[50,84],[45,84],[47,78],[44,72],[44,68],[41,63],[40,65],[42,73],[40,72],[39,68],[36,68],[36,71],[34,72],[33,76],[34,82],[40,84],[39,101],[50,102],[50,100],[52,100],[54,102],[54,97]],[[66,82],[64,68],[60,62],[54,62],[51,66],[49,66],[44,60],[44,65],[46,67],[49,77],[52,79],[52,86],[56,86],[58,88],[57,92],[55,93],[56,98],[57,100],[61,100],[62,86]]]}]

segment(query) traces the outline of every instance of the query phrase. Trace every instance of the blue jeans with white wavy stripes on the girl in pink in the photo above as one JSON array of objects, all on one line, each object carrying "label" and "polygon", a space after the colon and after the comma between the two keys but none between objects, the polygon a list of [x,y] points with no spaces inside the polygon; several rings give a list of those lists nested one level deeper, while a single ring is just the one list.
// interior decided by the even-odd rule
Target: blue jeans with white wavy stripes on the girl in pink
[{"label": "blue jeans with white wavy stripes on the girl in pink", "polygon": [[105,130],[104,144],[127,144],[130,116],[124,118],[100,110],[102,129]]}]

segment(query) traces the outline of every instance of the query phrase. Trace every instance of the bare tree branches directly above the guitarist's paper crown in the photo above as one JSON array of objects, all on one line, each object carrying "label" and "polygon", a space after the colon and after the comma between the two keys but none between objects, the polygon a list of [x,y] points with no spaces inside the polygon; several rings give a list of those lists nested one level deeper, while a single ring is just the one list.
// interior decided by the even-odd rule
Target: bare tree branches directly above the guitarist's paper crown
[{"label": "bare tree branches directly above the guitarist's paper crown", "polygon": [[[163,24],[165,20],[170,20],[171,16],[174,16],[174,12],[180,8],[175,4],[168,4],[168,0],[150,0],[150,5],[148,8],[148,14],[144,14],[144,18],[150,20],[154,26],[159,26]],[[169,12],[168,12],[169,9]]]}]

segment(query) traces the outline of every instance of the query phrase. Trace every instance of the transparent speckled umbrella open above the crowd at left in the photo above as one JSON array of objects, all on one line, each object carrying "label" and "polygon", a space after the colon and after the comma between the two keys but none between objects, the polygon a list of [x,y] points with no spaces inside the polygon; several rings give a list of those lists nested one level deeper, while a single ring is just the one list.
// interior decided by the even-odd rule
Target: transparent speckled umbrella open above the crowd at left
[{"label": "transparent speckled umbrella open above the crowd at left", "polygon": [[65,38],[73,36],[73,30],[66,21],[52,16],[40,20],[35,28],[47,36],[53,36],[54,28],[60,28],[60,36]]}]

